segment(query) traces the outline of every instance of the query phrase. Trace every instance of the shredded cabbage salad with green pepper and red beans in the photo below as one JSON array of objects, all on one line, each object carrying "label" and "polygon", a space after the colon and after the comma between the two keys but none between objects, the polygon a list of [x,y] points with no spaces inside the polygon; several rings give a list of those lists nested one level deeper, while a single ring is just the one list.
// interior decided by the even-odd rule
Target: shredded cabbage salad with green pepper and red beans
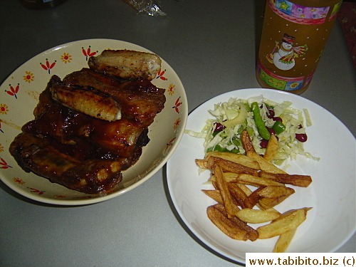
[{"label": "shredded cabbage salad with green pepper and red beans", "polygon": [[193,137],[204,138],[205,153],[211,151],[244,154],[241,132],[245,129],[251,137],[253,147],[264,155],[271,135],[276,135],[279,143],[274,164],[281,165],[286,159],[296,159],[297,155],[319,160],[305,152],[303,143],[308,140],[305,127],[312,125],[307,109],[291,108],[293,103],[276,103],[263,98],[230,98],[227,102],[214,105],[209,110],[214,118],[206,120],[201,132],[185,130]]}]

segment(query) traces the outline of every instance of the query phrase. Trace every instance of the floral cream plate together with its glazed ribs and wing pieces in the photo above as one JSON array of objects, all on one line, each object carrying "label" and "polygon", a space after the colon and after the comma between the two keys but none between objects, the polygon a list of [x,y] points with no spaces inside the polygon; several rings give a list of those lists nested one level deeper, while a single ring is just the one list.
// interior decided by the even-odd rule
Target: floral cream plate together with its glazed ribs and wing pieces
[{"label": "floral cream plate together with its glazed ribs and wing pieces", "polygon": [[1,92],[0,179],[48,204],[93,204],[142,184],[172,155],[188,115],[169,64],[112,39],[48,49]]}]

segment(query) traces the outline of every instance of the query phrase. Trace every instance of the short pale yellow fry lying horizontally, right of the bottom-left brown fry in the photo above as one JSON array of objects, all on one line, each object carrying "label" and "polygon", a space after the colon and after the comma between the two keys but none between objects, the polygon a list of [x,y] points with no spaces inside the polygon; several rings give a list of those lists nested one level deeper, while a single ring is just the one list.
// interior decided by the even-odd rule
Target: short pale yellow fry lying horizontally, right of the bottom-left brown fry
[{"label": "short pale yellow fry lying horizontally, right of the bottom-left brown fry", "polygon": [[281,214],[278,211],[264,211],[261,209],[241,209],[236,217],[250,224],[261,224],[277,219]]}]

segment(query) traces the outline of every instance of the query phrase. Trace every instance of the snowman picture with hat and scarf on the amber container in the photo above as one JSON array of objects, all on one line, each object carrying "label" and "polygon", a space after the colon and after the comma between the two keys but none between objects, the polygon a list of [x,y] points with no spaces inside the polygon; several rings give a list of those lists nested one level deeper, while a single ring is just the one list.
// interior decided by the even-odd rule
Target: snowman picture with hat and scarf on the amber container
[{"label": "snowman picture with hat and scarf on the amber container", "polygon": [[304,46],[293,47],[294,41],[294,36],[284,33],[281,46],[276,41],[276,46],[273,48],[272,53],[266,56],[267,60],[280,70],[290,70],[293,68],[295,66],[295,58],[303,56],[308,51],[306,44]]}]

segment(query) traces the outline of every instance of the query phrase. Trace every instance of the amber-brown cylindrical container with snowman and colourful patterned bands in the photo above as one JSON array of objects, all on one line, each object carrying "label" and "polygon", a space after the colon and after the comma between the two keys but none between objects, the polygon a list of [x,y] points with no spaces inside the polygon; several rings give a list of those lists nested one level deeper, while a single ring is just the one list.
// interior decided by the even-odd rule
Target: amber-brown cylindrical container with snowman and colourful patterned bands
[{"label": "amber-brown cylindrical container with snowman and colourful patterned bands", "polygon": [[340,0],[266,0],[256,78],[263,88],[303,93],[313,78]]}]

